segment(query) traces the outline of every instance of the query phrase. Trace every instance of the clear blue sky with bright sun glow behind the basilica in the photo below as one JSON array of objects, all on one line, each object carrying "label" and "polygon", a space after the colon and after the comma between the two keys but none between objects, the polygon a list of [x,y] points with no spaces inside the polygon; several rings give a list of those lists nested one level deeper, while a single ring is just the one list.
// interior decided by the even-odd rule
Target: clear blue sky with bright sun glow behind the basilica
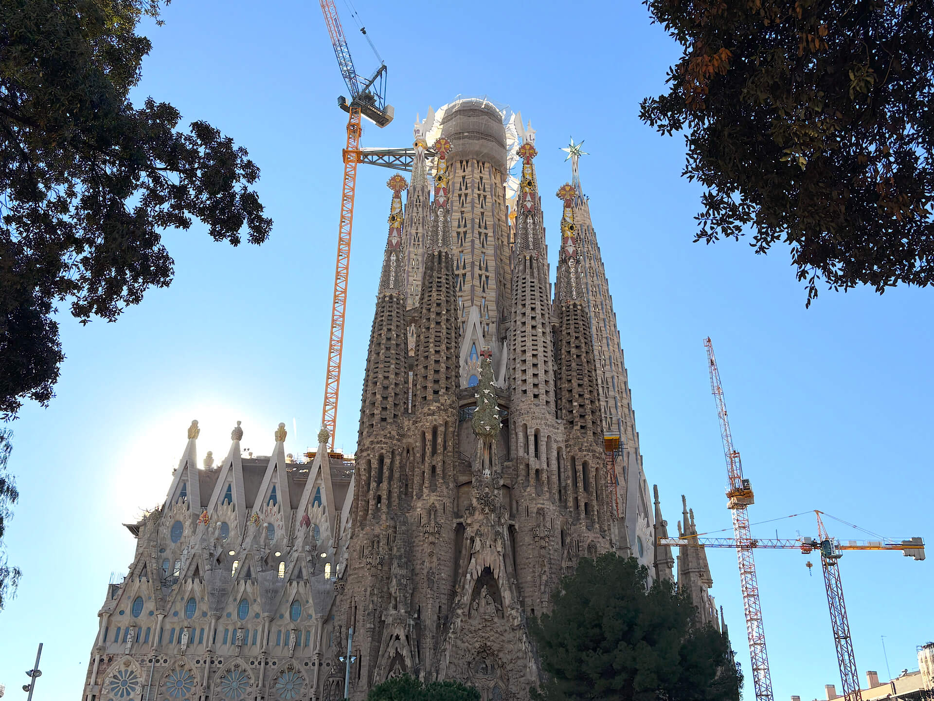
[{"label": "clear blue sky with bright sun glow behind the basilica", "polygon": [[[343,2],[361,72],[375,59]],[[700,190],[680,178],[681,136],[638,120],[664,89],[676,47],[635,2],[527,6],[357,0],[389,65],[396,121],[366,128],[366,146],[407,146],[416,112],[457,94],[518,109],[538,130],[536,159],[552,251],[570,179],[559,148],[590,152],[581,179],[601,242],[626,351],[645,472],[670,529],[680,495],[698,527],[729,528],[725,467],[704,336],[714,339],[737,448],[757,503],[753,522],[821,508],[886,536],[929,536],[934,479],[934,293],[821,292],[810,309],[781,248],[756,256],[740,241],[692,243]],[[7,530],[24,575],[0,613],[0,683],[20,694],[22,670],[45,643],[36,699],[78,698],[96,612],[134,541],[120,525],[164,498],[198,419],[199,451],[224,454],[237,420],[244,445],[268,454],[278,422],[289,451],[314,442],[320,421],[347,93],[317,3],[177,0],[135,93],[211,122],[262,167],[275,220],[261,248],[217,244],[200,226],[169,232],[167,290],[150,291],[119,322],[63,318],[67,360],[50,408],[13,424],[10,466],[21,503]],[[468,51],[472,51],[470,55]],[[353,451],[366,345],[389,212],[389,171],[361,169],[337,431]],[[552,261],[554,265],[554,261]],[[297,427],[293,430],[293,425]],[[928,436],[927,438],[925,436]],[[831,533],[860,537],[829,522]],[[754,527],[760,536],[814,534],[813,516]],[[709,551],[714,593],[748,672],[733,551]],[[795,551],[759,551],[758,579],[778,699],[823,694],[840,680],[819,566]],[[915,667],[927,642],[930,561],[850,553],[842,578],[860,677]],[[751,680],[746,698],[753,698]]]}]

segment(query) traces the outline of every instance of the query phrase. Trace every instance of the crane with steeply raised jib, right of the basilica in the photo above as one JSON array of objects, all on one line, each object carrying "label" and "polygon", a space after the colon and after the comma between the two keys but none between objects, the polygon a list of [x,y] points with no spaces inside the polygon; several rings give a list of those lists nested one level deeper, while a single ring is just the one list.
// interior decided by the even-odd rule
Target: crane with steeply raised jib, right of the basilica
[{"label": "crane with steeply raised jib, right of the basilica", "polygon": [[765,647],[765,628],[762,625],[762,606],[759,603],[756,578],[756,559],[753,555],[753,538],[750,534],[749,514],[746,510],[755,500],[749,480],[743,479],[740,452],[733,447],[727,404],[723,398],[723,386],[720,384],[720,371],[716,366],[714,344],[709,337],[704,341],[704,347],[707,349],[710,386],[716,400],[717,415],[720,419],[720,437],[723,439],[723,452],[727,459],[729,481],[727,508],[733,516],[733,535],[735,536],[736,558],[740,566],[740,586],[743,591],[743,611],[746,617],[746,636],[749,638],[753,685],[757,701],[773,701],[769,653]]}]

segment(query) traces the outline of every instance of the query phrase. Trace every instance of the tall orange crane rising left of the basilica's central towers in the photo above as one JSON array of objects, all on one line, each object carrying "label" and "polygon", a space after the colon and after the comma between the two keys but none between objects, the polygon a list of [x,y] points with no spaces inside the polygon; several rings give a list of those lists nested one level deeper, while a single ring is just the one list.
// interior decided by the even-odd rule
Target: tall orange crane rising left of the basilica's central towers
[{"label": "tall orange crane rising left of the basilica's central towers", "polygon": [[[350,272],[350,235],[353,231],[353,204],[357,187],[357,165],[361,158],[360,137],[361,117],[366,117],[379,127],[392,122],[394,110],[386,104],[386,64],[380,65],[369,79],[357,74],[344,28],[337,16],[333,0],[320,0],[321,13],[328,25],[334,55],[340,67],[350,101],[341,95],[337,105],[347,112],[347,147],[344,149],[344,187],[341,193],[341,218],[337,238],[337,265],[334,271],[334,299],[331,311],[331,336],[328,346],[328,371],[324,383],[324,408],[321,411],[321,425],[331,436],[331,450],[334,450],[334,433],[337,422],[337,396],[341,385],[341,356],[344,352],[344,319],[347,306],[347,278]],[[366,34],[366,28],[361,27]],[[372,42],[371,42],[372,46]],[[375,49],[374,49],[375,51]],[[376,54],[377,57],[379,54]],[[383,165],[383,164],[378,164]]]}]

